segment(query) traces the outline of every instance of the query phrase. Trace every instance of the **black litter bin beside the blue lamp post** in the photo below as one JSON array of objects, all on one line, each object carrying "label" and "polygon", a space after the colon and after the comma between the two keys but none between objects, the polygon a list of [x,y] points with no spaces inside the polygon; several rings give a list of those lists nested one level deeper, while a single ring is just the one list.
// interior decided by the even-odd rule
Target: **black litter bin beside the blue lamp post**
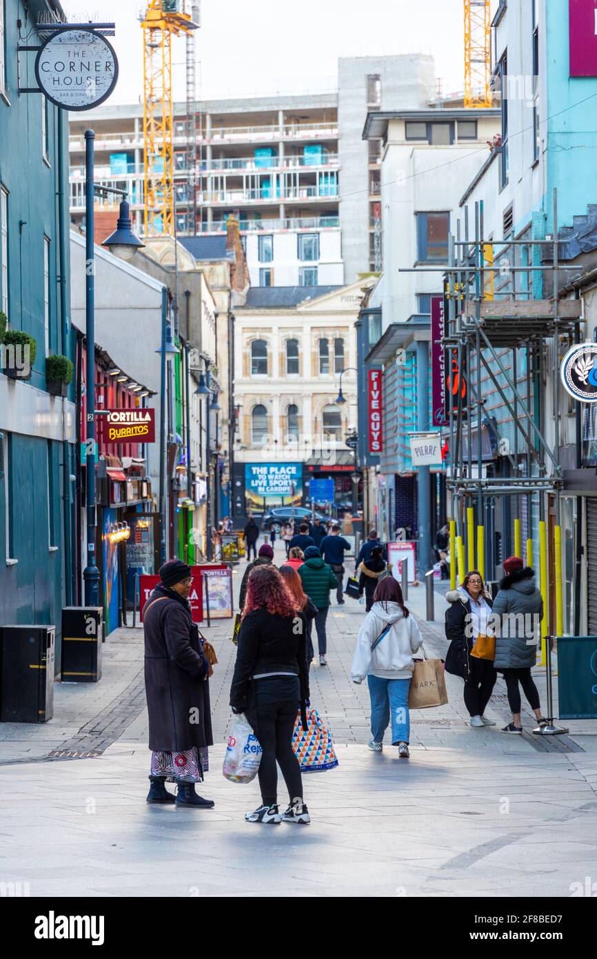
[{"label": "black litter bin beside the blue lamp post", "polygon": [[102,679],[102,617],[101,606],[63,608],[63,683],[97,683]]}]

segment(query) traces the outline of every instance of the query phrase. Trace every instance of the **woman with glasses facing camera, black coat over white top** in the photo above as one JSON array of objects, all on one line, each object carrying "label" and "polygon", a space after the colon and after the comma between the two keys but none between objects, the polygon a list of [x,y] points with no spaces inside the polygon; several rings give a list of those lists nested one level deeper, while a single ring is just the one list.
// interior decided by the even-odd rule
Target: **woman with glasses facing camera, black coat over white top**
[{"label": "woman with glasses facing camera, black coat over white top", "polygon": [[488,635],[492,611],[492,600],[481,573],[471,570],[460,589],[449,590],[446,598],[446,639],[450,643],[446,669],[465,681],[464,700],[471,726],[494,726],[494,721],[485,715],[497,679],[494,663],[472,655],[478,637]]}]

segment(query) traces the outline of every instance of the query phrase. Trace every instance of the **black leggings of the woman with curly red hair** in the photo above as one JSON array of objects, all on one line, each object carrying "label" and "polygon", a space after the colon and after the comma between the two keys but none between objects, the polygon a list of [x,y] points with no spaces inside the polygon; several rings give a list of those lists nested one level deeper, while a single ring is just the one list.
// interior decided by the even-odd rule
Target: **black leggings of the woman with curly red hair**
[{"label": "black leggings of the woman with curly red hair", "polygon": [[[273,680],[267,680],[271,683]],[[303,798],[301,767],[292,752],[292,733],[298,713],[298,702],[287,699],[281,703],[264,703],[257,700],[257,734],[262,749],[259,764],[259,785],[262,790],[264,806],[274,806],[278,802],[278,770],[276,760],[282,769],[287,784],[290,802],[297,796]]]}]

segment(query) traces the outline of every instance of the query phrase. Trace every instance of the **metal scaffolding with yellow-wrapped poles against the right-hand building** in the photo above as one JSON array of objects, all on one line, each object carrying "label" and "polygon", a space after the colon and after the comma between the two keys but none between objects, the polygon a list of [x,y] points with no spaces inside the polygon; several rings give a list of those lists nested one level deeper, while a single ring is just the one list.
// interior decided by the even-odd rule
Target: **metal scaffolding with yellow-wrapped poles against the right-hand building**
[{"label": "metal scaffolding with yellow-wrapped poles against the right-hand building", "polygon": [[[563,635],[563,565],[560,464],[560,358],[581,341],[581,303],[560,299],[558,198],[553,195],[553,235],[548,239],[492,240],[484,238],[483,201],[475,203],[474,235],[469,235],[465,210],[464,237],[460,223],[448,241],[447,328],[443,339],[446,369],[452,360],[465,370],[466,395],[448,404],[451,493],[450,578],[462,582],[466,570],[485,578],[486,559],[494,560],[494,542],[486,539],[495,499],[509,498],[514,515],[514,551],[528,566],[539,565],[543,596],[541,662],[545,663],[549,622],[549,570],[555,585],[555,620]],[[526,262],[520,264],[525,259]],[[512,262],[511,262],[512,261]],[[545,298],[545,287],[551,295]],[[502,292],[495,292],[500,287]],[[536,295],[538,294],[539,295]],[[548,349],[551,346],[551,350]],[[524,370],[521,370],[522,360]],[[449,363],[449,365],[448,365]],[[448,387],[451,372],[448,373]],[[545,439],[546,383],[552,384],[553,447]],[[486,410],[489,383],[512,417],[514,442],[502,445],[504,475],[488,475],[482,437],[490,419]],[[449,395],[448,388],[448,395]],[[473,447],[476,449],[473,450]],[[505,475],[508,472],[510,475]],[[554,506],[553,536],[548,535],[550,502]],[[523,550],[521,520],[526,517]],[[539,518],[539,557],[534,556],[532,517]],[[491,531],[491,528],[490,528]],[[455,561],[454,561],[455,560]],[[537,562],[539,560],[539,563]]]}]

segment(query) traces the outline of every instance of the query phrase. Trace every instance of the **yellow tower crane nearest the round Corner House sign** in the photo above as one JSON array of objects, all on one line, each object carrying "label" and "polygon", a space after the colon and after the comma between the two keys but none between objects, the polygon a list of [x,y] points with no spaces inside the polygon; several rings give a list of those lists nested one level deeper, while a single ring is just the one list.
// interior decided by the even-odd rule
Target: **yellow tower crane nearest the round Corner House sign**
[{"label": "yellow tower crane nearest the round Corner House sign", "polygon": [[184,0],[149,0],[143,28],[145,236],[174,235],[172,35],[196,30]]}]

